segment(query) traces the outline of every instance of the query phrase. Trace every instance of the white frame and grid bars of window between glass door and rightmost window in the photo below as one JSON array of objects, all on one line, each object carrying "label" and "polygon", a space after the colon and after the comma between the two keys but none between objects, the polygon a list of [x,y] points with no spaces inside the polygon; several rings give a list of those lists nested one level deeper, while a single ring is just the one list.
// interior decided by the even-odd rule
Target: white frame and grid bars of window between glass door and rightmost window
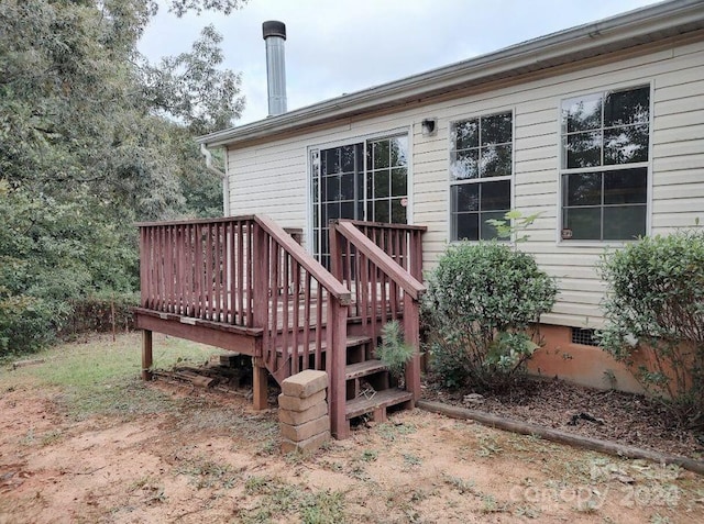
[{"label": "white frame and grid bars of window between glass door and rightmost window", "polygon": [[[495,115],[499,115],[499,114],[505,114],[505,113],[509,113],[510,114],[510,135],[512,135],[512,140],[510,140],[510,146],[512,146],[512,155],[510,155],[510,175],[504,175],[501,177],[477,177],[477,178],[472,178],[472,179],[464,179],[464,180],[454,180],[453,176],[452,176],[452,155],[453,153],[457,153],[457,141],[452,140],[452,129],[453,126],[455,126],[457,124],[463,123],[463,122],[468,122],[468,121],[472,121],[472,120],[481,120],[481,119],[485,119],[488,116],[495,116]],[[480,135],[481,136],[481,135]],[[502,144],[508,144],[508,143],[502,143]],[[482,144],[481,144],[481,138],[480,138],[480,145],[479,148],[481,150],[482,148]],[[516,199],[516,190],[515,190],[515,183],[516,183],[516,108],[515,107],[509,107],[509,108],[497,108],[497,109],[492,109],[492,110],[487,110],[487,111],[483,111],[483,112],[474,112],[474,113],[469,113],[469,114],[463,114],[461,116],[454,118],[452,120],[450,120],[448,122],[448,242],[450,244],[457,244],[460,242],[481,242],[481,241],[490,241],[492,238],[481,238],[481,228],[482,228],[482,224],[479,224],[479,232],[480,232],[480,237],[476,239],[469,239],[469,238],[458,238],[458,224],[457,221],[454,220],[459,213],[458,212],[453,212],[453,204],[452,204],[452,187],[453,186],[465,186],[465,185],[474,185],[474,183],[483,183],[483,182],[492,182],[492,181],[503,181],[503,180],[508,180],[509,182],[509,208],[507,211],[510,211],[512,209],[515,208],[515,199]],[[481,187],[481,186],[480,186]],[[481,215],[481,211],[479,212]],[[512,236],[509,238],[496,238],[499,242],[513,242],[515,238],[515,235],[512,234]]]}]

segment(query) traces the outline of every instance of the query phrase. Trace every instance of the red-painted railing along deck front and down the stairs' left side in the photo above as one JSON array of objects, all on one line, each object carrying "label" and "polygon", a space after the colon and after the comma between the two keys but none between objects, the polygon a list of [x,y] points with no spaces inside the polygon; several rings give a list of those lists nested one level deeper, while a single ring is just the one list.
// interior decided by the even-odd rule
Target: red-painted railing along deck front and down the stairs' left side
[{"label": "red-painted railing along deck front and down the stairs' left side", "polygon": [[340,281],[265,216],[139,225],[142,308],[184,323],[262,328],[255,366],[279,381],[309,367],[328,371],[332,428],[344,427],[351,298]]}]

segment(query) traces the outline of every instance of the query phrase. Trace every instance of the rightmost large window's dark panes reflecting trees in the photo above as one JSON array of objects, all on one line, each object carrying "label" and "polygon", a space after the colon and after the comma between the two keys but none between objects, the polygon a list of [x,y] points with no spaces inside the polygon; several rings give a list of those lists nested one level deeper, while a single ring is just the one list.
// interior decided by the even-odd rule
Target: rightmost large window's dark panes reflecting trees
[{"label": "rightmost large window's dark panes reflecting trees", "polygon": [[650,87],[562,102],[562,238],[646,234]]}]

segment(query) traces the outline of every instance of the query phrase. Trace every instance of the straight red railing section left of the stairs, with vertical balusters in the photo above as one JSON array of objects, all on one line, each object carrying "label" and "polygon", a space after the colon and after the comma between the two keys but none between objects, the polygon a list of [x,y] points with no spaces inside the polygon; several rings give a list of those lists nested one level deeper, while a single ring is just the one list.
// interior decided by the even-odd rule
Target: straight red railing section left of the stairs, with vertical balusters
[{"label": "straight red railing section left of the stairs, with vertical balusters", "polygon": [[142,308],[253,326],[253,216],[139,225]]}]

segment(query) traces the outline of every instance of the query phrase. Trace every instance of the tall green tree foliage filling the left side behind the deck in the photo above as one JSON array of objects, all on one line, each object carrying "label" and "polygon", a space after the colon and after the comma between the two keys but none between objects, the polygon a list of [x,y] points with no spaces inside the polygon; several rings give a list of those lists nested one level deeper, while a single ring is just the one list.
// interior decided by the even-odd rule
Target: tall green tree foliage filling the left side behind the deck
[{"label": "tall green tree foliage filling the left side behind the deck", "polygon": [[[234,0],[172,0],[187,10]],[[36,347],[76,300],[130,293],[134,222],[220,214],[197,134],[243,108],[221,36],[150,64],[136,48],[150,0],[0,3],[0,354]]]}]

